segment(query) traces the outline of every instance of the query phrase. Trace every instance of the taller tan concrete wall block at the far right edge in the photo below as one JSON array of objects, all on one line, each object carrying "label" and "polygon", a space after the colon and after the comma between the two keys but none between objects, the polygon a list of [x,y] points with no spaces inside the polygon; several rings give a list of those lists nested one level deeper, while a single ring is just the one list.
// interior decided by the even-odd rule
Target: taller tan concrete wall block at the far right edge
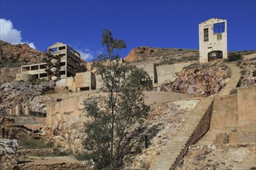
[{"label": "taller tan concrete wall block at the far right edge", "polygon": [[238,124],[256,122],[256,86],[237,89]]}]

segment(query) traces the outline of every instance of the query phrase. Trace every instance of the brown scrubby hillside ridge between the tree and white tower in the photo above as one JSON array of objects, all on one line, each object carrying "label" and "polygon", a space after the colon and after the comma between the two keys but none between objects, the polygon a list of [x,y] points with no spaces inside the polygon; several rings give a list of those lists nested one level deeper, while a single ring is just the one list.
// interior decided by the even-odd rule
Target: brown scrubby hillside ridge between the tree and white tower
[{"label": "brown scrubby hillside ridge between the tree and white tower", "polygon": [[199,60],[199,50],[197,49],[171,49],[153,48],[140,46],[130,50],[124,58],[126,62],[147,62],[157,63],[158,65],[181,63],[186,61]]}]

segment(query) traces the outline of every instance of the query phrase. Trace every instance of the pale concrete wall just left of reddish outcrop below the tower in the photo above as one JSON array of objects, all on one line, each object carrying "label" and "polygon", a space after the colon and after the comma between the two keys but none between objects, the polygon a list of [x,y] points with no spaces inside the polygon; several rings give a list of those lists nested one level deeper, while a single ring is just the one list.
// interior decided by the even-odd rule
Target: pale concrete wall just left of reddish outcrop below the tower
[{"label": "pale concrete wall just left of reddish outcrop below the tower", "polygon": [[175,80],[176,74],[185,66],[189,66],[191,63],[177,63],[171,65],[157,66],[157,83],[164,83],[166,80]]}]

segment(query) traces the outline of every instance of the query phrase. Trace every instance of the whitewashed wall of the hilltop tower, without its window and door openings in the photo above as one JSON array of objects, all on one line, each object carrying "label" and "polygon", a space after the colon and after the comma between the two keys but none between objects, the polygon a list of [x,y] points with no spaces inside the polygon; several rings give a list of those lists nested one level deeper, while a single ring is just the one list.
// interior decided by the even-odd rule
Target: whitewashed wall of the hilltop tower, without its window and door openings
[{"label": "whitewashed wall of the hilltop tower, without its window and door openings", "polygon": [[[221,39],[217,39],[218,34],[213,32],[215,23],[224,22],[225,31],[220,33]],[[204,39],[204,29],[208,29],[209,40]],[[199,61],[200,63],[208,62],[208,54],[212,51],[220,50],[223,52],[223,58],[227,58],[227,20],[226,19],[209,19],[199,23]]]}]

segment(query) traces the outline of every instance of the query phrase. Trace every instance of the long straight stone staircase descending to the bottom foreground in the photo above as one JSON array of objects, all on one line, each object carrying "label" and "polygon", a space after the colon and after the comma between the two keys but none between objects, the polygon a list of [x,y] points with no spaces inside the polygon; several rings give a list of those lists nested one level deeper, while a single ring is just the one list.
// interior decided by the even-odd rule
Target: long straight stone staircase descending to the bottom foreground
[{"label": "long straight stone staircase descending to the bottom foreground", "polygon": [[149,169],[164,170],[175,168],[181,162],[189,145],[198,141],[209,130],[209,121],[213,110],[213,98],[199,101],[189,117],[183,122],[178,133],[167,143],[161,155]]}]

